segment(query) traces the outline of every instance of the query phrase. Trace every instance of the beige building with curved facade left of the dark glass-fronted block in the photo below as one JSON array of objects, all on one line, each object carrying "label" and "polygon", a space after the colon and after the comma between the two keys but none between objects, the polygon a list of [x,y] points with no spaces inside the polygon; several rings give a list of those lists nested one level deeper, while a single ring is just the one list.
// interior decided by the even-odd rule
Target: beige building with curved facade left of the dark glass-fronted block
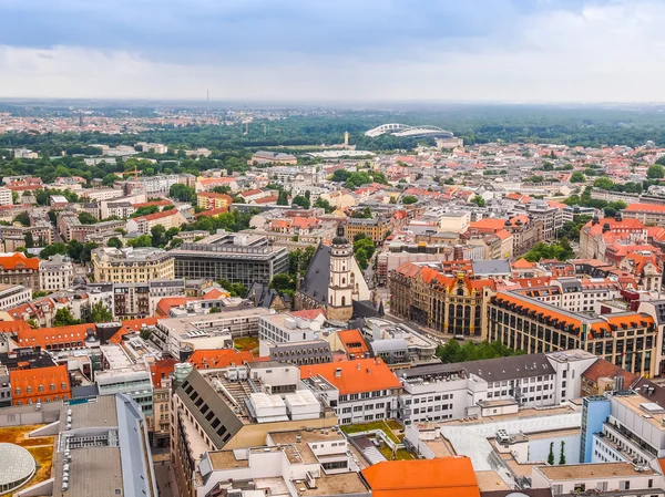
[{"label": "beige building with curved facade left of the dark glass-fronted block", "polygon": [[154,248],[100,248],[92,252],[96,282],[143,283],[175,279],[173,257]]}]

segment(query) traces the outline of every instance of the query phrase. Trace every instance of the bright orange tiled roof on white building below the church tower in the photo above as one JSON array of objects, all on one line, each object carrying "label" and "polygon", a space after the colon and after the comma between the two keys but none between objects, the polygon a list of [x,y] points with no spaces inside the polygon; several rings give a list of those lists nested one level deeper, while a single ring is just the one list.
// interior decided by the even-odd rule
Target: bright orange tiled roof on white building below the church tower
[{"label": "bright orange tiled roof on white building below the church tower", "polygon": [[[336,375],[340,369],[341,374]],[[340,395],[375,392],[377,390],[399,389],[401,383],[380,359],[360,359],[357,361],[309,364],[300,366],[300,377],[321,375],[339,390]]]}]

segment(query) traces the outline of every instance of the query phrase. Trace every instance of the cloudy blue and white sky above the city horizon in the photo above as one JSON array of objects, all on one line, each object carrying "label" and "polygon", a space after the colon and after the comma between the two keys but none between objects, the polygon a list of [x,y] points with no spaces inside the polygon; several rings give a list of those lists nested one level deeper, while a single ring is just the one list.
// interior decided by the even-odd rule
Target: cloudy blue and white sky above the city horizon
[{"label": "cloudy blue and white sky above the city horizon", "polygon": [[0,97],[663,102],[665,0],[0,0]]}]

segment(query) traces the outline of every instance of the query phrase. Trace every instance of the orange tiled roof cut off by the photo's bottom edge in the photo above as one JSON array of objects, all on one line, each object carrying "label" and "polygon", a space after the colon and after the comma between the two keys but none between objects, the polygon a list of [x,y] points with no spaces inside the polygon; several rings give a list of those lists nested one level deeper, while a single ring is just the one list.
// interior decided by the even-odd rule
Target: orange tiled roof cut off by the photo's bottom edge
[{"label": "orange tiled roof cut off by the photo's bottom edge", "polygon": [[385,460],[361,473],[374,497],[480,497],[466,456]]}]

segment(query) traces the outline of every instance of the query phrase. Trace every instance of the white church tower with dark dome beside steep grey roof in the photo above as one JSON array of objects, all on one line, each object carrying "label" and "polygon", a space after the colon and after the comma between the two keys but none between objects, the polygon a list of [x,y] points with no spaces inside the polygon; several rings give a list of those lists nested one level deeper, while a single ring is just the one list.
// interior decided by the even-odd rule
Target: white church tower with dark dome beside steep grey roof
[{"label": "white church tower with dark dome beside steep grey roof", "polygon": [[348,321],[354,314],[354,248],[344,236],[344,226],[337,226],[337,236],[330,246],[330,281],[328,282],[328,319]]}]

